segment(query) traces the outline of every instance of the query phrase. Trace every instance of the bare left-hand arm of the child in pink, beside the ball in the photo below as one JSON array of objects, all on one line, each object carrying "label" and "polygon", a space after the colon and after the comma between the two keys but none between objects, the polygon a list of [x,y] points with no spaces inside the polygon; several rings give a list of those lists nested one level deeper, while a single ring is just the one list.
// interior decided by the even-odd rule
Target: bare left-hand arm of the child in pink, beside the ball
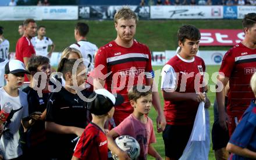
[{"label": "bare left-hand arm of the child in pink, beside the ball", "polygon": [[108,148],[113,153],[118,155],[119,159],[130,159],[129,155],[126,151],[121,150],[113,140],[113,137],[118,137],[119,134],[115,132],[115,130],[111,130],[108,133],[106,133],[106,138],[108,139]]}]

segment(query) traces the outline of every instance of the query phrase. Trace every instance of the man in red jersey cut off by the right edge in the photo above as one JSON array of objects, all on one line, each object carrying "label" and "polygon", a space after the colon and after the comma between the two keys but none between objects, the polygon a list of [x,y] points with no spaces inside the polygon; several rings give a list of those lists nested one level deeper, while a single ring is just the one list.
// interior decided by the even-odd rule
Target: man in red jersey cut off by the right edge
[{"label": "man in red jersey cut off by the right edge", "polygon": [[[229,129],[230,136],[244,111],[250,106],[251,99],[255,98],[250,79],[256,71],[256,13],[246,14],[242,24],[244,40],[233,46],[223,57],[216,89],[219,124],[222,128]],[[230,90],[227,93],[225,111],[225,86],[228,81]]]}]

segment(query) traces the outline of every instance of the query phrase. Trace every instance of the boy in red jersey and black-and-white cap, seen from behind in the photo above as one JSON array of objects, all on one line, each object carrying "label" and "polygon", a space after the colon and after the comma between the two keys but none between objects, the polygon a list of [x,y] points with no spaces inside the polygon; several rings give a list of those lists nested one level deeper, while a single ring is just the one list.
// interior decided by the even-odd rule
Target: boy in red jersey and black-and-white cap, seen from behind
[{"label": "boy in red jersey and black-and-white cap, seen from behind", "polygon": [[123,97],[119,94],[115,97],[106,89],[97,89],[88,99],[94,99],[88,102],[88,110],[90,110],[93,120],[84,129],[72,160],[105,160],[108,159],[108,142],[104,132],[104,124],[107,119],[113,117],[114,106],[123,103]]}]

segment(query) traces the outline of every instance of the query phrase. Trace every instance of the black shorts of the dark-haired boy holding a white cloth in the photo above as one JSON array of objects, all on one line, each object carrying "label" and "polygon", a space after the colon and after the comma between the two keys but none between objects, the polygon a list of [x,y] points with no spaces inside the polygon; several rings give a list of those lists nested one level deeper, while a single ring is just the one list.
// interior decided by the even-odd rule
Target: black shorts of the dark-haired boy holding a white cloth
[{"label": "black shorts of the dark-haired boy holding a white cloth", "polygon": [[193,125],[166,125],[163,130],[165,156],[179,159],[189,141]]}]

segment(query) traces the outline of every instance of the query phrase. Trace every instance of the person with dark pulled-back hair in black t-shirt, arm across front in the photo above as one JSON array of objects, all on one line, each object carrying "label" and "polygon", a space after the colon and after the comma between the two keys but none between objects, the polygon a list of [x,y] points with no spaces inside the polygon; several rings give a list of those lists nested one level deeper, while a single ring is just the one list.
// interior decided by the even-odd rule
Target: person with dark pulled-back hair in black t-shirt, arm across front
[{"label": "person with dark pulled-back hair in black t-shirt, arm across front", "polygon": [[[84,82],[87,79],[83,61],[63,58],[58,72],[63,74],[65,86],[54,92],[48,100],[45,129],[51,158],[71,159],[76,145],[74,140],[81,136],[87,125],[87,103]],[[58,149],[56,149],[58,148]],[[63,154],[65,153],[65,154]]]}]

